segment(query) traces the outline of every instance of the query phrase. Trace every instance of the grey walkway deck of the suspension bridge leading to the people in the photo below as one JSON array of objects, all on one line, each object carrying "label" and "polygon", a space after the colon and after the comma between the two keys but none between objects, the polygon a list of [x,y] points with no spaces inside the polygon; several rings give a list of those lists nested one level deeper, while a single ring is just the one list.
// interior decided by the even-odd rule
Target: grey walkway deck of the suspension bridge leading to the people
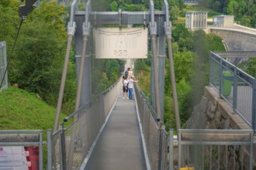
[{"label": "grey walkway deck of the suspension bridge leading to the people", "polygon": [[119,93],[85,169],[147,169],[135,100],[123,99],[123,91]]}]

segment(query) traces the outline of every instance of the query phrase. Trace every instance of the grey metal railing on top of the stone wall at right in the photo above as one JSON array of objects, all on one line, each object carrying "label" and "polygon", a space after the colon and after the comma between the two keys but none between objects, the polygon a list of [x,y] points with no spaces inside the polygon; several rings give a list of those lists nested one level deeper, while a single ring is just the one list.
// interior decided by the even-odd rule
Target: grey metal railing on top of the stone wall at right
[{"label": "grey metal railing on top of the stone wall at right", "polygon": [[256,128],[256,80],[226,59],[211,52],[209,56],[209,85],[213,86],[220,97],[227,100],[254,129]]}]

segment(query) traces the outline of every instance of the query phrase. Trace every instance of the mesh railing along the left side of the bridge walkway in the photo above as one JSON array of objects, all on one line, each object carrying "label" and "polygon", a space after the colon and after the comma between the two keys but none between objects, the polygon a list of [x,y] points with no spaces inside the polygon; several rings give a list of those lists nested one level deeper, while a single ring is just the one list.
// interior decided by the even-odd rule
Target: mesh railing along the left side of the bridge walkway
[{"label": "mesh railing along the left side of the bridge walkway", "polygon": [[[106,122],[106,117],[122,85],[122,80],[119,79],[112,87],[66,117],[53,134],[49,131],[48,145],[51,149],[51,155],[48,155],[49,169],[81,167],[102,125]],[[74,121],[74,117],[78,118]]]}]

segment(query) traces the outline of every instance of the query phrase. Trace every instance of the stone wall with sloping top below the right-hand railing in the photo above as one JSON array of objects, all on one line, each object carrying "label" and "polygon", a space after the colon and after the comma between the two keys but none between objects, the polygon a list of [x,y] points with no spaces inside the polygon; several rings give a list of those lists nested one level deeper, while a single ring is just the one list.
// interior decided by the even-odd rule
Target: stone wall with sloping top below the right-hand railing
[{"label": "stone wall with sloping top below the right-hand railing", "polygon": [[[205,93],[198,105],[195,106],[192,116],[186,122],[186,129],[226,129],[226,130],[251,130],[249,124],[239,114],[234,113],[233,108],[226,100],[220,99],[219,93],[213,87],[206,87]],[[224,138],[225,136],[223,136]],[[235,151],[234,151],[235,149]],[[225,151],[224,151],[225,152]],[[254,147],[254,153],[256,153]],[[229,148],[230,160],[235,160],[227,169],[241,169],[243,162],[244,169],[248,169],[250,160],[249,148]],[[241,155],[240,153],[243,153]],[[221,155],[221,153],[220,153]],[[253,155],[252,155],[253,156]],[[255,162],[255,158],[254,158]],[[213,164],[216,162],[212,162]],[[220,164],[225,165],[225,162]],[[255,164],[254,164],[255,165]],[[231,167],[231,166],[235,166]],[[247,168],[245,168],[247,167]]]}]

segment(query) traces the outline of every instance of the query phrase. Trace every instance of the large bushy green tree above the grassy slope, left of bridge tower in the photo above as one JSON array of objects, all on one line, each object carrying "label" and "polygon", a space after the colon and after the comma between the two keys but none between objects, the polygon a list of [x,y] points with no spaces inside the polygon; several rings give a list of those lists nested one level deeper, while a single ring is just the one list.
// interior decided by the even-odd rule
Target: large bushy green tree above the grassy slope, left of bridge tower
[{"label": "large bushy green tree above the grassy slope, left of bridge tower", "polygon": [[[38,93],[52,105],[57,103],[67,42],[63,15],[64,8],[57,2],[41,2],[25,20],[9,66],[11,83],[19,83],[22,89]],[[74,73],[72,64],[69,72]],[[68,77],[68,90],[75,91],[75,76]],[[65,92],[71,93],[68,90]],[[70,100],[65,98],[65,102],[71,102],[72,95],[68,97]]]}]

